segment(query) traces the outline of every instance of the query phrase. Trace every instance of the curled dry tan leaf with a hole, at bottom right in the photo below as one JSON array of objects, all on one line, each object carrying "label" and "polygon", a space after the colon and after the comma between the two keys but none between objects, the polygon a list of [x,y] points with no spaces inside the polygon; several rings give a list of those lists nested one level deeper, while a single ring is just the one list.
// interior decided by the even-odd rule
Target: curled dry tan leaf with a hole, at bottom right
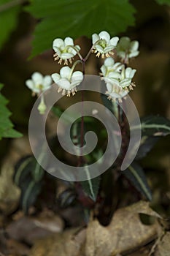
[{"label": "curled dry tan leaf with a hole, at bottom right", "polygon": [[147,202],[118,209],[108,227],[97,220],[90,222],[85,245],[86,256],[113,256],[129,252],[155,238],[157,223],[143,225],[139,213],[160,217]]}]

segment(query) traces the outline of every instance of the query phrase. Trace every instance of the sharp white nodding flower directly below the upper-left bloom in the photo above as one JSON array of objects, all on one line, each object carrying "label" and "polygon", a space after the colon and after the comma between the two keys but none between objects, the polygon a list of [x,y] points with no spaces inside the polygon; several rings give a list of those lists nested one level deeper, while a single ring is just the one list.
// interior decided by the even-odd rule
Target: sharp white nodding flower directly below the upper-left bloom
[{"label": "sharp white nodding flower directly below the upper-left bloom", "polygon": [[62,67],[60,70],[60,74],[55,73],[52,74],[52,78],[55,83],[58,84],[58,92],[62,91],[62,95],[74,95],[77,92],[76,86],[79,86],[83,80],[82,72],[75,71],[69,67]]}]

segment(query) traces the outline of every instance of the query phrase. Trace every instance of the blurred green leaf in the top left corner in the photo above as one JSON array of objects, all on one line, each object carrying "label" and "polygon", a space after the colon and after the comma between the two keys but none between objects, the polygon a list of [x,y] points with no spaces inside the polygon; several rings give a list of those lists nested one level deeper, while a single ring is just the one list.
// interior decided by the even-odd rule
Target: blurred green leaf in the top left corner
[{"label": "blurred green leaf in the top left corner", "polygon": [[20,12],[21,1],[0,0],[0,48],[8,39],[11,31],[15,29],[18,23],[18,13]]}]

